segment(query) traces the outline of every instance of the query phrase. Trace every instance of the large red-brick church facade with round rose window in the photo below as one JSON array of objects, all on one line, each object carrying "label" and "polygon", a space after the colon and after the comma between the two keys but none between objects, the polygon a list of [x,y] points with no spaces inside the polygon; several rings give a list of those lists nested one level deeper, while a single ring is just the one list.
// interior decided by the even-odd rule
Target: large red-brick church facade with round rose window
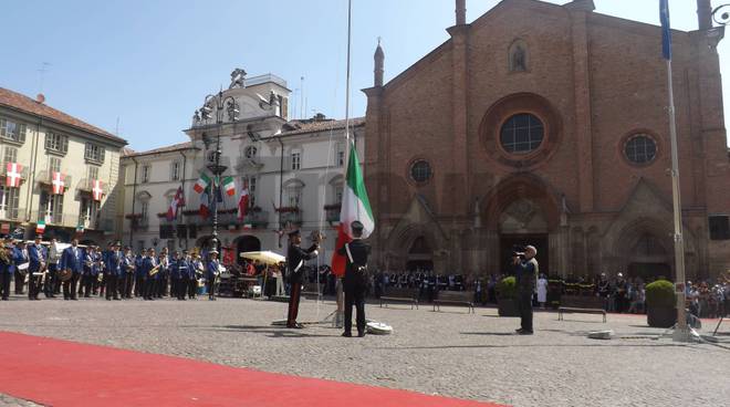
[{"label": "large red-brick church facade with round rose window", "polygon": [[[710,1],[672,31],[687,275],[730,269],[730,159]],[[552,275],[674,276],[661,29],[503,0],[388,83],[375,53],[365,180],[380,269],[500,273],[514,244]]]}]

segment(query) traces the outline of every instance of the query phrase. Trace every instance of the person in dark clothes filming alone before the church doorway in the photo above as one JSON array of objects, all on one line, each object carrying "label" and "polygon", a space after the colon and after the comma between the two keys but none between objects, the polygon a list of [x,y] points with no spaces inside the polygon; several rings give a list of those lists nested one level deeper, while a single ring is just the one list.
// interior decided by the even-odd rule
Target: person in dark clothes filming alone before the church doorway
[{"label": "person in dark clothes filming alone before the church doorway", "polygon": [[535,283],[540,267],[535,255],[538,249],[528,246],[524,253],[514,253],[514,279],[518,292],[518,310],[520,312],[520,335],[532,335],[532,295],[535,292]]}]

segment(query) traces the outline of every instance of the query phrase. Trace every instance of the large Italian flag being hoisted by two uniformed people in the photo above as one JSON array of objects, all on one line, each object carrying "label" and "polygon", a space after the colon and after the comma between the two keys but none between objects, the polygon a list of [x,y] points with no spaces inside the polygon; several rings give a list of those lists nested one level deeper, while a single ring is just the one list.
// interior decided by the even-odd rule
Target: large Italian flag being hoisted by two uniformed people
[{"label": "large Italian flag being hoisted by two uniformed people", "polygon": [[359,168],[357,152],[355,146],[350,147],[350,158],[347,159],[347,174],[345,176],[345,186],[342,195],[342,207],[340,209],[340,226],[337,228],[337,242],[332,255],[332,270],[335,275],[345,275],[346,258],[340,255],[337,251],[352,240],[353,233],[351,223],[359,220],[363,228],[363,239],[367,239],[375,229],[375,218],[371,209],[371,201],[367,199],[365,181]]}]

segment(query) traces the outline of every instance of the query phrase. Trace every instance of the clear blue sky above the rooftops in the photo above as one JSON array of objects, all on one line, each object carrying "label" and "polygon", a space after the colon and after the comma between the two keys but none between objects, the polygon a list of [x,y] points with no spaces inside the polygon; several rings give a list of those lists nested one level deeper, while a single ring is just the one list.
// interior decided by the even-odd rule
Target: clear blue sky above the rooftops
[{"label": "clear blue sky above the rooftops", "polygon": [[[498,2],[467,0],[468,21]],[[659,24],[658,0],[595,3],[596,12]],[[358,116],[366,105],[359,90],[373,83],[377,38],[383,38],[388,81],[448,39],[455,1],[353,4],[351,101]],[[696,4],[670,0],[672,27],[697,29]],[[291,106],[296,116],[303,87],[305,116],[316,111],[344,117],[346,0],[23,0],[4,2],[2,13],[0,86],[35,95],[39,70],[48,62],[48,104],[112,133],[118,117],[119,136],[134,149],[185,140],[180,131],[192,112],[207,94],[228,85],[236,66],[249,75],[284,77],[296,92]],[[726,79],[728,41],[720,46]]]}]

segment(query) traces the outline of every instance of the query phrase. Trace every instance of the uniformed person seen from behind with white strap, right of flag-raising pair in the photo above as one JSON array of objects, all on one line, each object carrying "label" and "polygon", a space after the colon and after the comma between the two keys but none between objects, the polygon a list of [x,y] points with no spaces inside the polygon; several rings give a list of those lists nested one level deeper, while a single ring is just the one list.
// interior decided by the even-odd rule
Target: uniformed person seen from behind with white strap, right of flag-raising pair
[{"label": "uniformed person seen from behind with white strap, right of flag-raising pair", "polygon": [[363,223],[355,220],[351,225],[353,241],[337,251],[347,258],[343,288],[345,291],[345,332],[342,336],[351,337],[353,327],[353,305],[357,310],[357,336],[365,336],[365,291],[367,290],[367,257],[371,246],[361,238]]}]

